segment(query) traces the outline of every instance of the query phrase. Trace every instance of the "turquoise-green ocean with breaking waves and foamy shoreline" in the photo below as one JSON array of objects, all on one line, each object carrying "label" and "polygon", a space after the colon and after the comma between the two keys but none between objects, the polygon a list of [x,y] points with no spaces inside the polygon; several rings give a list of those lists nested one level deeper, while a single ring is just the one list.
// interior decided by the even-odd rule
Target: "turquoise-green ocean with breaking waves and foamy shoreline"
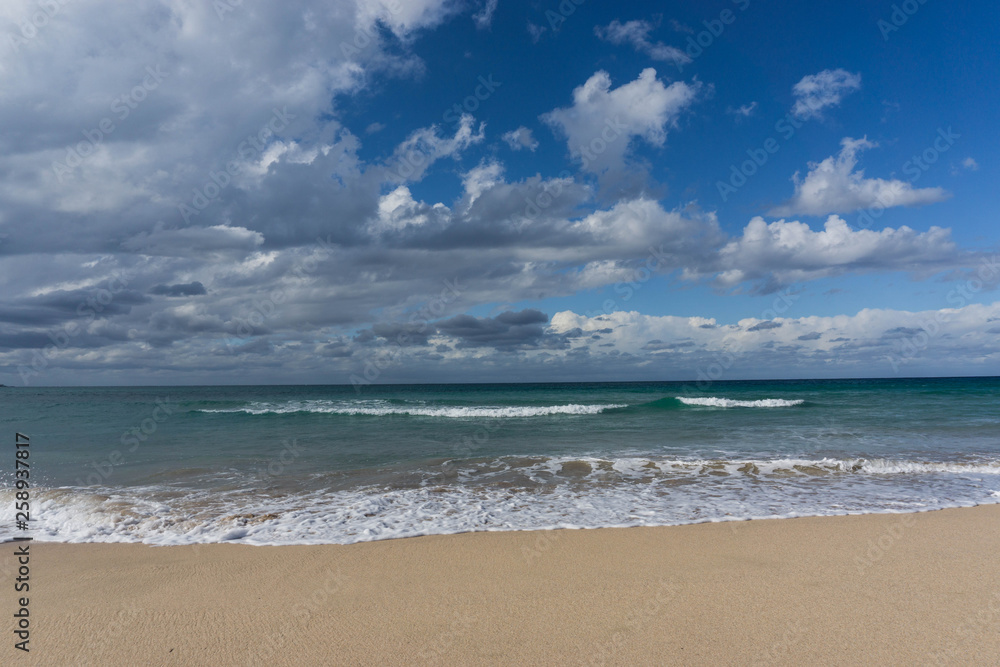
[{"label": "turquoise-green ocean with breaking waves and foamy shoreline", "polygon": [[1000,502],[1000,378],[0,388],[0,424],[0,539],[348,544]]}]

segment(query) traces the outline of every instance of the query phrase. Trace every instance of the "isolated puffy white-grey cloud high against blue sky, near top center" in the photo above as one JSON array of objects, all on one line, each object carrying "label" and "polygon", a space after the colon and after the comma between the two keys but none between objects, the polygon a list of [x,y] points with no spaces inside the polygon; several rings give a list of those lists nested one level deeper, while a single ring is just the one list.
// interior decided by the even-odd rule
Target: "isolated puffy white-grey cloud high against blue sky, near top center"
[{"label": "isolated puffy white-grey cloud high against blue sky, near top center", "polygon": [[701,84],[675,81],[669,86],[647,68],[635,81],[611,89],[611,77],[598,71],[573,91],[573,106],[541,118],[566,136],[570,155],[594,173],[621,169],[633,137],[663,146],[667,129],[696,99]]}]

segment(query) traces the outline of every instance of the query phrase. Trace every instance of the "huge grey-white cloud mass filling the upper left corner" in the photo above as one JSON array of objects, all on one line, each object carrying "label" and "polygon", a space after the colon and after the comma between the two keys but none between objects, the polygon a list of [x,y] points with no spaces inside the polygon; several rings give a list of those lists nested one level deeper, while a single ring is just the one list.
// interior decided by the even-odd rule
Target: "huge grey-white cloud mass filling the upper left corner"
[{"label": "huge grey-white cloud mass filling the upper left corner", "polygon": [[[333,100],[373,75],[419,73],[409,45],[456,7],[395,4],[60,6],[8,54],[17,66],[0,67],[10,92],[0,100],[0,234],[8,235],[0,252],[120,252],[158,221],[243,227],[270,245],[359,225],[388,167],[358,159],[360,142]],[[4,8],[15,18],[38,10],[31,0]],[[467,127],[459,143],[478,134]],[[403,149],[427,148],[432,159],[449,149],[426,136],[412,142]],[[182,205],[198,212],[184,217]],[[337,225],[330,210],[341,213]],[[19,219],[35,221],[36,231],[11,223]]]}]

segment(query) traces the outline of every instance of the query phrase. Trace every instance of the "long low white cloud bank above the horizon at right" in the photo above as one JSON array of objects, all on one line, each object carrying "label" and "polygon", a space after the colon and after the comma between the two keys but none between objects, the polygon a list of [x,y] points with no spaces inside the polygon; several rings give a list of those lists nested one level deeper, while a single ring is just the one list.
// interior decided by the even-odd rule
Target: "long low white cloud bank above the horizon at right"
[{"label": "long low white cloud bank above the horizon at right", "polygon": [[596,339],[573,339],[575,359],[583,349],[591,357],[620,364],[655,359],[682,369],[687,377],[712,364],[728,377],[760,377],[761,371],[766,377],[775,363],[793,376],[877,377],[918,369],[947,371],[951,364],[975,372],[982,364],[1000,361],[1000,336],[993,330],[1000,302],[956,301],[955,308],[921,312],[866,308],[854,315],[818,317],[798,314],[805,298],[784,293],[768,302],[758,317],[735,324],[621,310],[596,316],[563,311],[552,316],[549,330],[598,334]]}]

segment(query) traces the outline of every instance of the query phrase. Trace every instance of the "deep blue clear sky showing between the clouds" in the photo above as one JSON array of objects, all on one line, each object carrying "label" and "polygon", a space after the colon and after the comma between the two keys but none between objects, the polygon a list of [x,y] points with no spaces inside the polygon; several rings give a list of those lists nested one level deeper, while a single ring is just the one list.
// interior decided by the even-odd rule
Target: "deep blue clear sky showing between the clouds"
[{"label": "deep blue clear sky showing between the clouds", "polygon": [[[1000,75],[1000,61],[991,57],[994,36],[972,28],[996,20],[1000,16],[996,8],[932,3],[921,6],[919,16],[915,14],[897,28],[892,24],[891,4],[818,3],[775,12],[742,1],[678,5],[669,10],[659,3],[640,2],[627,11],[584,3],[565,17],[558,4],[552,4],[555,9],[545,3],[498,5],[488,30],[477,29],[472,21],[451,21],[436,31],[434,39],[414,47],[429,70],[447,72],[447,76],[435,78],[428,73],[402,85],[385,82],[371,96],[339,100],[359,134],[371,122],[386,126],[368,142],[366,154],[383,157],[405,138],[408,126],[400,123],[401,110],[406,110],[406,118],[425,125],[447,122],[443,117],[449,110],[454,119],[454,105],[464,103],[477,120],[497,132],[528,127],[539,147],[513,152],[494,140],[468,151],[459,164],[469,167],[484,159],[501,160],[509,179],[575,172],[579,165],[568,155],[565,142],[539,117],[565,106],[567,84],[578,85],[594,71],[607,71],[615,84],[622,84],[642,69],[654,67],[665,82],[698,79],[712,86],[679,119],[666,145],[635,142],[632,147],[634,156],[648,162],[650,191],[664,205],[696,203],[715,211],[722,228],[736,233],[750,217],[765,213],[792,194],[792,174],[805,172],[810,161],[836,153],[845,136],[868,137],[878,145],[864,153],[859,169],[873,177],[942,187],[952,195],[932,206],[880,210],[874,228],[945,225],[952,227],[956,242],[966,247],[995,245],[989,223],[996,197],[985,186],[995,173],[985,156],[995,154],[998,146],[994,122],[986,110],[996,106],[997,86],[992,82]],[[732,22],[720,24],[719,14],[726,10]],[[555,11],[559,18],[547,15],[548,11]],[[892,28],[883,28],[880,20]],[[627,43],[602,41],[595,27],[613,21],[646,22],[650,41],[687,50],[696,58],[678,66],[675,61],[654,60]],[[526,29],[529,23],[546,28],[537,40]],[[721,34],[716,36],[720,25]],[[699,37],[707,46],[697,43]],[[538,66],[540,62],[543,67]],[[863,82],[860,89],[821,118],[787,121],[778,132],[775,125],[790,113],[792,85],[809,74],[836,68],[858,73]],[[501,83],[495,94],[481,101],[470,96],[480,77]],[[736,113],[740,108],[752,110],[743,115]],[[794,130],[790,137],[789,127]],[[958,139],[924,169],[913,158],[934,145],[941,129],[951,129]],[[759,154],[769,138],[777,140],[777,153],[768,154],[748,184],[724,199],[719,181],[728,183],[732,166],[752,157],[747,151]],[[975,170],[963,166],[970,157]],[[459,164],[445,166],[437,177],[428,177],[411,190],[427,201],[452,201],[461,194]],[[845,219],[859,226],[867,222],[860,215],[853,212]],[[799,216],[813,225],[825,217]],[[760,309],[759,300],[752,297],[732,299],[703,285],[671,290],[670,284],[669,279],[658,278],[644,285],[648,289],[637,291],[633,307],[657,315],[683,313],[730,320]],[[821,297],[810,312],[832,315],[887,305],[936,308],[952,286],[948,282],[918,286],[905,274],[892,272],[863,280],[820,281],[810,286]],[[873,288],[881,299],[872,300]],[[831,290],[836,292],[826,294]],[[601,290],[597,290],[515,305],[593,309],[601,301]],[[488,312],[488,307],[479,312]]]}]

